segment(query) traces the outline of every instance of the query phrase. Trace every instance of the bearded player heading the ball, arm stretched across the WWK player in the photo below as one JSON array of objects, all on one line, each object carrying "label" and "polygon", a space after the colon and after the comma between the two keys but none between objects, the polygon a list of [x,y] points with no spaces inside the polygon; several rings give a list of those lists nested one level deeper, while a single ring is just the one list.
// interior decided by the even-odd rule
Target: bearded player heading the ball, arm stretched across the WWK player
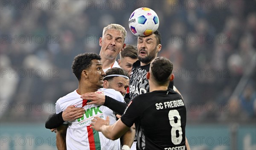
[{"label": "bearded player heading the ball, arm stretched across the WWK player", "polygon": [[[137,95],[149,92],[149,84],[146,74],[149,71],[150,63],[157,57],[157,53],[161,51],[161,48],[161,34],[159,31],[155,31],[153,34],[145,37],[138,37],[137,49],[139,60],[134,62],[131,71],[129,82],[130,99],[133,99]],[[180,94],[173,85],[173,81],[169,82],[168,88],[172,88]],[[97,93],[85,93],[81,98],[92,100],[88,104],[104,105],[119,114],[123,114],[127,107],[127,104],[125,103],[120,103],[115,99]]]}]

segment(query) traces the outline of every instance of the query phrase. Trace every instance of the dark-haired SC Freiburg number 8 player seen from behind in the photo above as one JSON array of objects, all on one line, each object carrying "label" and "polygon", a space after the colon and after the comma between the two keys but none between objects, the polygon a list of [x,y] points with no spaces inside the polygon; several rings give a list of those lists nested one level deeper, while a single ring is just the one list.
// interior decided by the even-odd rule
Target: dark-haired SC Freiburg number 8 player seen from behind
[{"label": "dark-haired SC Freiburg number 8 player seen from behind", "polygon": [[118,139],[135,124],[137,150],[186,150],[186,107],[182,97],[168,88],[174,79],[172,62],[157,57],[146,74],[150,92],[132,99],[125,113],[113,125],[95,116],[90,128],[109,139]]}]

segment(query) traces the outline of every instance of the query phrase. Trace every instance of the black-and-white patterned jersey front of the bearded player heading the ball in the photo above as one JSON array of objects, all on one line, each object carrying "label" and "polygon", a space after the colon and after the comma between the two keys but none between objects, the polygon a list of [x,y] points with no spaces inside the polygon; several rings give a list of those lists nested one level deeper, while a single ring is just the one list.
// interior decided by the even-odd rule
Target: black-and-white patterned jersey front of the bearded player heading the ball
[{"label": "black-and-white patterned jersey front of the bearded player heading the ball", "polygon": [[[146,77],[149,67],[150,64],[140,66],[140,60],[134,62],[129,82],[130,99],[133,99],[137,95],[149,92],[149,84]],[[173,89],[173,81],[169,83],[169,88]]]}]

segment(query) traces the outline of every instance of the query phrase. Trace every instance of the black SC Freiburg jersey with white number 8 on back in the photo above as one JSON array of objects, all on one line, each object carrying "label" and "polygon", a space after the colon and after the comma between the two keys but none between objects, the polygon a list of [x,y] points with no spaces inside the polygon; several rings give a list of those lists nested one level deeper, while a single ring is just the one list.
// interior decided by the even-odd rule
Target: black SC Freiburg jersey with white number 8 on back
[{"label": "black SC Freiburg jersey with white number 8 on back", "polygon": [[135,123],[137,150],[186,150],[186,108],[172,89],[138,95],[121,120],[128,127]]}]

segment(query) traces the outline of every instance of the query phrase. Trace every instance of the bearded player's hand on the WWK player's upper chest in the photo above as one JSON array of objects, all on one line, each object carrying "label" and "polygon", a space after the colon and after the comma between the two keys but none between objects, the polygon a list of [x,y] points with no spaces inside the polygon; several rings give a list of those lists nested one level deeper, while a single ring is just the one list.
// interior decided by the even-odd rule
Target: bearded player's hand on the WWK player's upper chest
[{"label": "bearded player's hand on the WWK player's upper chest", "polygon": [[87,105],[103,105],[105,103],[105,96],[96,92],[85,93],[81,95],[81,98],[91,100],[91,102],[87,102]]}]

